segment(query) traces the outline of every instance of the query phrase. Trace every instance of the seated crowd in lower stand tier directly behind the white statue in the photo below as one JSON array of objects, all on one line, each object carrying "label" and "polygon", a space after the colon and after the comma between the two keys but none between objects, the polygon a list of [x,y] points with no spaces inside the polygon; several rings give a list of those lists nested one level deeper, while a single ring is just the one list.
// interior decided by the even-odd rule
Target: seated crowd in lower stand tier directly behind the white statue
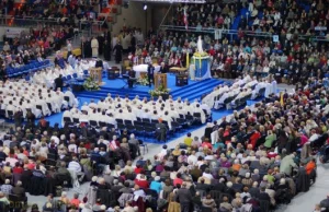
[{"label": "seated crowd in lower stand tier directly behind the white statue", "polygon": [[[201,33],[168,30],[156,36],[150,32],[151,38],[133,48],[128,58],[133,64],[140,58],[146,63],[157,58],[169,68],[185,67],[188,52],[193,61],[197,34]],[[229,36],[215,40],[204,34],[203,42],[212,59],[213,76],[235,79],[247,72],[264,78],[271,73],[279,83],[305,83],[309,76],[324,78],[329,67],[327,43],[285,38],[275,43],[272,38],[245,34],[234,40]]]}]

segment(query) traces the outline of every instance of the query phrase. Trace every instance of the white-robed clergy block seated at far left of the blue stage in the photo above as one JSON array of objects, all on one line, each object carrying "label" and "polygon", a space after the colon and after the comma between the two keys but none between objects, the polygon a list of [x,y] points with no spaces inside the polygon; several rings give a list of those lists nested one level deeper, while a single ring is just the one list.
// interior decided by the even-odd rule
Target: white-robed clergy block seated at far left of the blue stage
[{"label": "white-robed clergy block seated at far left of the blue stage", "polygon": [[[36,118],[49,116],[52,113],[60,113],[61,108],[78,105],[78,101],[70,90],[65,93],[60,91],[52,91],[46,85],[31,84],[25,81],[11,82],[0,84],[1,109],[8,111],[23,113],[26,117],[27,109],[35,115]],[[65,101],[68,97],[68,102]]]}]

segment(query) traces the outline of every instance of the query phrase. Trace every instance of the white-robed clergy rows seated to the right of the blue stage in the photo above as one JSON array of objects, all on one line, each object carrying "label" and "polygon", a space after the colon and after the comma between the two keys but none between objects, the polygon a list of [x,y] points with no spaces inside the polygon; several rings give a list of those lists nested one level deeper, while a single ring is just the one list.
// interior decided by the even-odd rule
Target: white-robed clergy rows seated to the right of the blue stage
[{"label": "white-robed clergy rows seated to the right of the blue stage", "polygon": [[[235,96],[231,104],[250,94],[251,99],[254,99],[262,89],[265,89],[264,97],[269,97],[270,94],[276,93],[276,81],[272,81],[272,83],[265,79],[258,81],[257,78],[251,79],[249,74],[246,74],[243,79],[237,79],[231,86],[219,85],[215,87],[212,93],[203,98],[203,102],[209,107],[217,109],[219,105],[224,104],[225,99],[231,96]],[[219,96],[219,99],[217,96]]]}]

